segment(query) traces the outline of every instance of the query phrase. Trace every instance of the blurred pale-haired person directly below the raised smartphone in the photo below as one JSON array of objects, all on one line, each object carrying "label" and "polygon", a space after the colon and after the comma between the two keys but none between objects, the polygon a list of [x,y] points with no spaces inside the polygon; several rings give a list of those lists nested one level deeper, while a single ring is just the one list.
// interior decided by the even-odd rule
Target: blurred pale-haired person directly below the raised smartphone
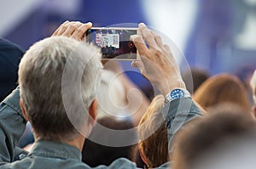
[{"label": "blurred pale-haired person directly below the raised smartphone", "polygon": [[125,76],[118,61],[104,62],[101,87],[97,93],[97,118],[104,116],[131,121],[137,127],[146,112],[149,101],[145,94]]}]

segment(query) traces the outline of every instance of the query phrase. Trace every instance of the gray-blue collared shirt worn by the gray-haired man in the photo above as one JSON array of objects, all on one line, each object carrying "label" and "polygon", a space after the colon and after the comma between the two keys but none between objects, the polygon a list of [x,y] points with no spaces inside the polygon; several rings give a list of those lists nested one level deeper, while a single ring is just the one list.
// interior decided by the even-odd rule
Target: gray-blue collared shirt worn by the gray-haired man
[{"label": "gray-blue collared shirt worn by the gray-haired man", "polygon": [[[169,144],[172,135],[189,121],[201,115],[192,99],[184,98],[173,100],[162,111],[166,121]],[[20,91],[16,88],[0,104],[0,168],[91,168],[81,161],[79,149],[69,144],[52,141],[38,141],[32,151],[22,160],[14,161],[14,149],[26,127],[26,119],[20,110]],[[165,168],[168,164],[160,166]],[[134,162],[119,158],[110,166],[101,168],[137,168]]]}]

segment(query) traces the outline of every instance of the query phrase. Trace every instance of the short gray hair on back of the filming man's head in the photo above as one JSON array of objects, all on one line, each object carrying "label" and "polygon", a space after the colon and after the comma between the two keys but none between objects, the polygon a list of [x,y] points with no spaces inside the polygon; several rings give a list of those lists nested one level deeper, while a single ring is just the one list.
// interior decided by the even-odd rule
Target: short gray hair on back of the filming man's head
[{"label": "short gray hair on back of the filming man's head", "polygon": [[98,56],[96,48],[68,37],[46,38],[26,52],[19,68],[20,99],[37,139],[72,140],[83,130],[96,98]]}]

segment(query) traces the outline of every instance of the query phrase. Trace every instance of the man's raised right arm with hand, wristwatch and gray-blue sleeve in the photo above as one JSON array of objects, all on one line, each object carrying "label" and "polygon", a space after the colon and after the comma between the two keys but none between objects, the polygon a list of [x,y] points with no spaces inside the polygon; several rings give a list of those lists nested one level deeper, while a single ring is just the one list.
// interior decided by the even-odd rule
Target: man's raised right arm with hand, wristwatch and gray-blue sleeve
[{"label": "man's raised right arm with hand, wristwatch and gray-blue sleeve", "polygon": [[170,145],[172,136],[177,130],[183,127],[185,122],[202,115],[201,110],[186,90],[171,49],[146,25],[140,24],[139,31],[141,36],[132,36],[131,40],[135,43],[141,60],[132,62],[132,65],[137,67],[143,76],[166,97],[162,114],[166,121]]}]

